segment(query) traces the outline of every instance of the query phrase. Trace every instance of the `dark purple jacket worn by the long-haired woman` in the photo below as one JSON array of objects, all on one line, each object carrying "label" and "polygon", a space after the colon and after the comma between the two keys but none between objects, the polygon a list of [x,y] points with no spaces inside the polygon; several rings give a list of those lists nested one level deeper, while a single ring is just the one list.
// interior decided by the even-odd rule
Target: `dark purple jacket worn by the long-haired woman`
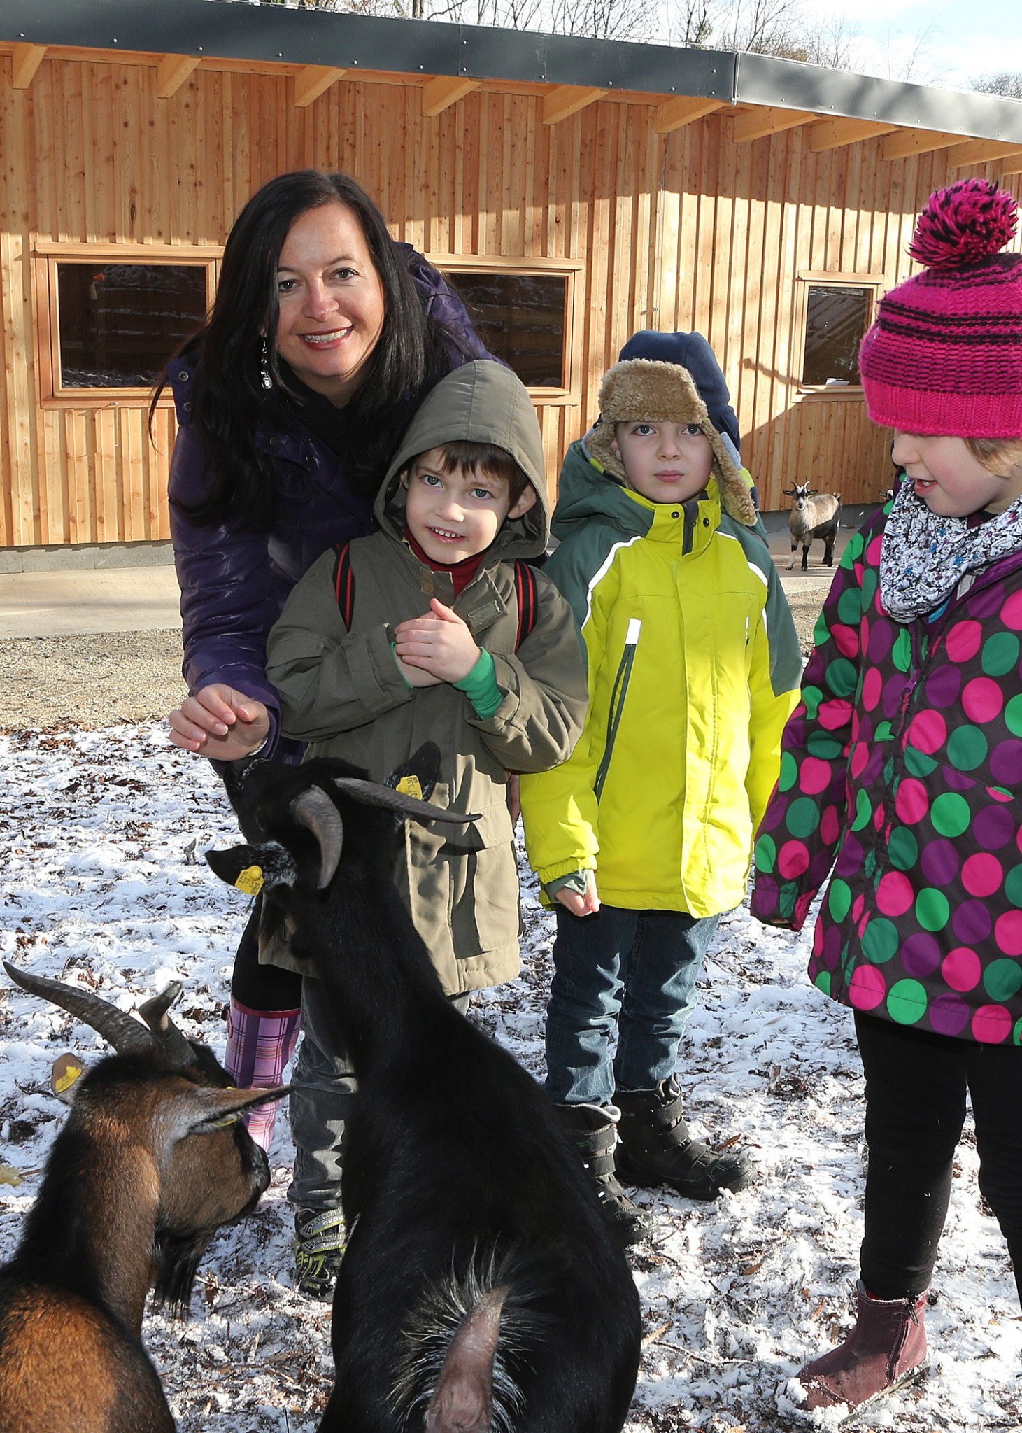
[{"label": "dark purple jacket worn by the long-haired woman", "polygon": [[[454,342],[450,368],[489,358],[462,299],[421,254],[398,244],[427,314]],[[206,494],[206,456],[191,426],[192,364],[175,360],[168,378],[178,410],[178,438],[171,459],[171,535],[181,586],[183,675],[189,692],[224,682],[269,709],[267,755],[295,759],[300,747],[280,741],[277,694],[267,681],[267,635],[281,615],[295,582],[334,543],[371,532],[373,497],[348,490],[344,460],[305,428],[261,424],[257,441],[271,453],[280,473],[281,503],[274,527],[249,532],[229,522],[202,526],[182,516],[178,504]],[[411,413],[394,414],[400,436]]]}]

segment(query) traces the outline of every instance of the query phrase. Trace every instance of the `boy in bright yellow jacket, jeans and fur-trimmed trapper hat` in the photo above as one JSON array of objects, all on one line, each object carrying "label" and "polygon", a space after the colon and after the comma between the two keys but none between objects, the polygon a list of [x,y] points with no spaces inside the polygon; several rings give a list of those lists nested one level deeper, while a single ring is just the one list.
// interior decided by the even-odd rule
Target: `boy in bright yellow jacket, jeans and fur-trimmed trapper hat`
[{"label": "boy in bright yellow jacket, jeans and fur-trimmed trapper hat", "polygon": [[695,1199],[753,1178],[691,1138],[674,1070],[718,917],[745,894],[801,656],[710,345],[642,334],[625,353],[565,459],[545,567],[582,629],[586,724],[563,765],[522,777],[522,815],[558,921],[546,1088],[628,1244],[648,1231],[615,1166]]}]

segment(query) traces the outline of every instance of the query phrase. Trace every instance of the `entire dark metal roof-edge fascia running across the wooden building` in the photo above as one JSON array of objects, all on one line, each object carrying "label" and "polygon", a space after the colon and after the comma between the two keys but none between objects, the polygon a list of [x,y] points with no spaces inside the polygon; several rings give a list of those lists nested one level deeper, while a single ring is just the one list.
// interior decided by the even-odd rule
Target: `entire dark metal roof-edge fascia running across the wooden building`
[{"label": "entire dark metal roof-edge fascia running across the wooden building", "polygon": [[1022,145],[1022,103],[763,54],[685,50],[245,0],[0,0],[0,39],[400,75],[581,85],[936,129]]}]

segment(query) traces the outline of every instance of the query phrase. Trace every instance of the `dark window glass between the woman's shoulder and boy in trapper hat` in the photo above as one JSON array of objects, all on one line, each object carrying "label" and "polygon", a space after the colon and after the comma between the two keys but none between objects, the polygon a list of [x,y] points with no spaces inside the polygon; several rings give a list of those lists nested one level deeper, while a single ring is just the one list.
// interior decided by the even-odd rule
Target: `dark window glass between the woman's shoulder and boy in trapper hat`
[{"label": "dark window glass between the woman's shoulder and boy in trapper hat", "polygon": [[563,274],[447,274],[476,332],[526,388],[566,388]]}]

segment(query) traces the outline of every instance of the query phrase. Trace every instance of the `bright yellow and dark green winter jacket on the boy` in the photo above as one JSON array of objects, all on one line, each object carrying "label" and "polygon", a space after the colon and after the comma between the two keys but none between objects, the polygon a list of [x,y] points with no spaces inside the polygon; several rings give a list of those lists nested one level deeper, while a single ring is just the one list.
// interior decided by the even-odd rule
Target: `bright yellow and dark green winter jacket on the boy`
[{"label": "bright yellow and dark green winter jacket on the boy", "polygon": [[770,552],[707,493],[621,486],[585,440],[560,474],[545,566],[582,629],[589,711],[573,755],[522,777],[543,884],[596,870],[601,900],[714,916],[745,896],[801,655]]}]

